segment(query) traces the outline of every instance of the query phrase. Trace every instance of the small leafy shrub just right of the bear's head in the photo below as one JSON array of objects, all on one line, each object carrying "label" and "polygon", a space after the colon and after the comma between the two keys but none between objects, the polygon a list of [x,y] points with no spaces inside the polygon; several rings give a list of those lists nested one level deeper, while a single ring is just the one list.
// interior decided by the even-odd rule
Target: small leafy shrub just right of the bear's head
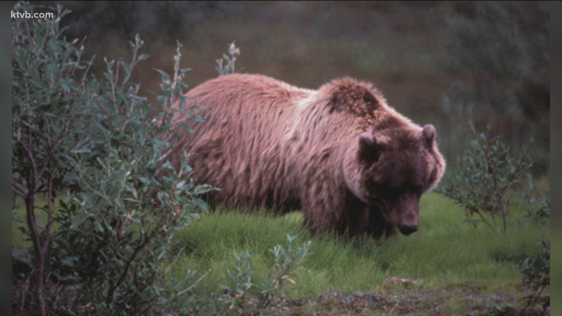
[{"label": "small leafy shrub just right of the bear's head", "polygon": [[[532,166],[529,147],[512,155],[500,137],[477,133],[472,121],[472,147],[464,152],[452,177],[439,189],[465,210],[465,222],[484,223],[493,231],[506,231],[510,210],[524,200],[513,198],[512,189]],[[527,196],[522,193],[522,197]],[[474,218],[477,217],[477,218]]]}]

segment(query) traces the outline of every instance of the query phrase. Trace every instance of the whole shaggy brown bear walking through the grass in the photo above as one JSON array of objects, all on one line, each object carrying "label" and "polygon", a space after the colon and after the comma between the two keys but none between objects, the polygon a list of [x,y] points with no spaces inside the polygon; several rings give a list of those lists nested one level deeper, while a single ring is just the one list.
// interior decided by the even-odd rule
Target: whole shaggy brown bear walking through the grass
[{"label": "whole shaggy brown bear walking through the grass", "polygon": [[193,153],[194,176],[220,188],[210,202],[301,209],[313,232],[407,235],[445,171],[433,125],[412,123],[357,80],[313,91],[232,74],[187,95],[206,122],[178,132],[171,162]]}]

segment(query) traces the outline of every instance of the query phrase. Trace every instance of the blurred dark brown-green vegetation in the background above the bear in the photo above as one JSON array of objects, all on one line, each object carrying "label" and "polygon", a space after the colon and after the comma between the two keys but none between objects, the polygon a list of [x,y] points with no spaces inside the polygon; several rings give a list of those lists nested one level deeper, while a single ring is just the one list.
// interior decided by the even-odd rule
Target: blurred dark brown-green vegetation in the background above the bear
[{"label": "blurred dark brown-green vegetation in the background above the bear", "polygon": [[[52,5],[56,1],[42,2]],[[236,40],[247,73],[315,89],[352,76],[374,83],[414,121],[433,123],[448,161],[469,146],[466,125],[492,123],[514,151],[533,137],[533,173],[547,175],[550,15],[546,2],[81,2],[62,24],[87,36],[87,56],[110,60],[145,39],[152,58],[133,75],[157,91],[153,68],[184,43],[191,87],[214,78]],[[89,55],[88,55],[89,54]],[[96,63],[94,63],[96,65]],[[100,67],[93,72],[100,74]],[[151,97],[151,96],[148,96]],[[452,164],[451,164],[452,166]]]}]

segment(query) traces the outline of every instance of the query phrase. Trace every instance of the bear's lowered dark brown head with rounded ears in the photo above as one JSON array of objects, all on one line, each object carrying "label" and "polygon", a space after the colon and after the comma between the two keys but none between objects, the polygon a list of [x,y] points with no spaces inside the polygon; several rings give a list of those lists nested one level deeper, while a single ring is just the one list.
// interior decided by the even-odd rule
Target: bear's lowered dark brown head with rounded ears
[{"label": "bear's lowered dark brown head with rounded ears", "polygon": [[343,171],[353,195],[409,235],[420,224],[420,197],[437,186],[445,161],[436,130],[428,124],[360,134],[347,151]]}]

